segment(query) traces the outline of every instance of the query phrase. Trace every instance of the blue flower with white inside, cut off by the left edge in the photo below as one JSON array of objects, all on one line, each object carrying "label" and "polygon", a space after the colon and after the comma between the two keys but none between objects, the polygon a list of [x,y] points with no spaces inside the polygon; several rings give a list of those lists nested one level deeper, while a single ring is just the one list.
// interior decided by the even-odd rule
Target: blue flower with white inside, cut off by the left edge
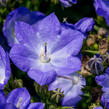
[{"label": "blue flower with white inside, cut off by the left edge", "polygon": [[0,46],[0,89],[4,89],[11,74],[8,54]]}]

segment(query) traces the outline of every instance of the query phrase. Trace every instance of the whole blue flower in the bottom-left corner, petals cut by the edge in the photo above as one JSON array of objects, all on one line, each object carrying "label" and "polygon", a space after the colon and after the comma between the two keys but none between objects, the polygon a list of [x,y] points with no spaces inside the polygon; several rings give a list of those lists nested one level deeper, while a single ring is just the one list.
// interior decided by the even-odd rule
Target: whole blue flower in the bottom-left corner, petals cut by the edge
[{"label": "whole blue flower in the bottom-left corner, petals cut by the edge", "polygon": [[[43,109],[43,103],[31,103],[30,95],[26,88],[16,88],[11,91],[7,98],[5,99],[3,92],[0,92],[0,100],[5,100],[0,102],[0,107],[8,107],[8,109]],[[0,108],[4,109],[4,108]]]}]

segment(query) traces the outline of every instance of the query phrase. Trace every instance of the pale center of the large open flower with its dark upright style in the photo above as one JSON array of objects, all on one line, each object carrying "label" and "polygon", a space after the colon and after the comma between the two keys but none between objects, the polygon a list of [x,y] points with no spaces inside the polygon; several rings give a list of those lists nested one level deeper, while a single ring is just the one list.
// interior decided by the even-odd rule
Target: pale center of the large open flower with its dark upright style
[{"label": "pale center of the large open flower with its dark upright style", "polygon": [[49,53],[47,51],[47,43],[44,43],[44,51],[40,54],[40,61],[42,63],[48,63],[50,62],[50,56]]}]

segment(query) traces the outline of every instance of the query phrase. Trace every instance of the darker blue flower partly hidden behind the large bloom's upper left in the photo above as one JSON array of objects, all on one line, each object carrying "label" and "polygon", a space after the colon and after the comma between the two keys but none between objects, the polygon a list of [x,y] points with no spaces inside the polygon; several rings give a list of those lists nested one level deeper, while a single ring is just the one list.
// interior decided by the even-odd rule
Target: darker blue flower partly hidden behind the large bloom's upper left
[{"label": "darker blue flower partly hidden behind the large bloom's upper left", "polygon": [[44,14],[37,11],[30,12],[29,9],[24,7],[17,8],[10,12],[5,19],[5,23],[3,26],[3,33],[7,39],[9,46],[12,47],[14,44],[19,43],[19,41],[16,39],[15,34],[16,21],[23,21],[30,25],[33,25],[44,18],[44,16]]}]

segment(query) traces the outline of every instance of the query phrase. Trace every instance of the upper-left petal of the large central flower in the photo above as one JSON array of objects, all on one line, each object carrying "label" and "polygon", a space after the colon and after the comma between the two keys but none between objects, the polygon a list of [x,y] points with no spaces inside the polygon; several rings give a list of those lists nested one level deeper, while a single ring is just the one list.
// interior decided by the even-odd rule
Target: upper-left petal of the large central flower
[{"label": "upper-left petal of the large central flower", "polygon": [[15,24],[16,38],[20,43],[25,43],[31,47],[37,47],[37,36],[36,31],[31,25],[24,22],[16,22]]}]

